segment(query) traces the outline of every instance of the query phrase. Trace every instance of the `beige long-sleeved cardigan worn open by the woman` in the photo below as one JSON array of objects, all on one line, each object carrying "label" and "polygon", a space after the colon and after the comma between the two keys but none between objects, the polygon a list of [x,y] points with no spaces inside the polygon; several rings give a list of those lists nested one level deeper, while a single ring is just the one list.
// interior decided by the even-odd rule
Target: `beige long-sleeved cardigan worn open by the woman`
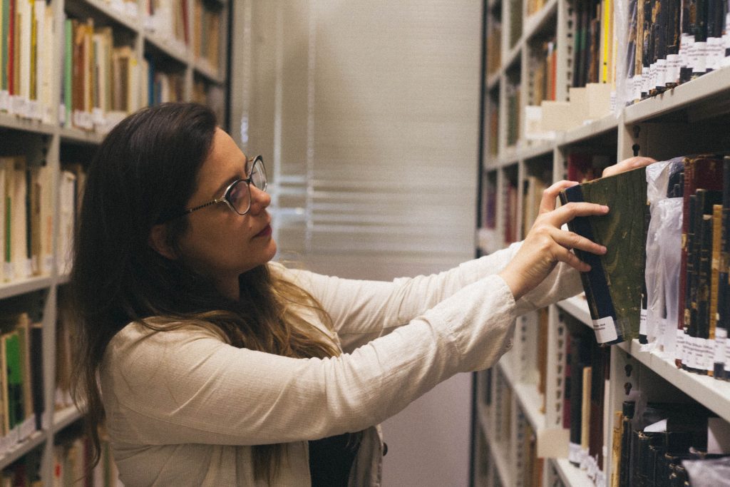
[{"label": "beige long-sleeved cardigan worn open by the woman", "polygon": [[277,485],[308,486],[307,440],[365,429],[350,485],[380,485],[380,422],[442,380],[495,364],[521,313],[580,292],[578,273],[561,264],[515,304],[493,274],[517,248],[391,283],[270,264],[330,313],[345,351],[337,358],[287,358],[231,347],[196,326],[150,333],[130,323],[101,369],[120,480],[253,486],[250,445],[286,442]]}]

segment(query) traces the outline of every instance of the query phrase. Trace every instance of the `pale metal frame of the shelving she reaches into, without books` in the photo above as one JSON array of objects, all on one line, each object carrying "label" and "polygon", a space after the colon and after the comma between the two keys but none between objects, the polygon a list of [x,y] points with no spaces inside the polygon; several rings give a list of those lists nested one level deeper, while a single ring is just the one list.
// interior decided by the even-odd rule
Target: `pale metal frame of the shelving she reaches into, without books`
[{"label": "pale metal frame of the shelving she reaches into, without books", "polygon": [[[518,215],[510,224],[517,224],[520,229],[518,238],[523,237],[521,228],[523,215],[522,192],[526,177],[534,175],[534,169],[545,165],[545,172],[552,177],[548,183],[565,178],[566,159],[572,151],[601,150],[612,162],[634,156],[651,156],[659,160],[668,159],[688,153],[699,153],[730,149],[730,132],[726,126],[730,123],[730,67],[723,67],[708,72],[696,80],[692,80],[676,88],[668,90],[650,99],[639,101],[621,110],[616,110],[602,118],[586,120],[568,131],[558,132],[554,139],[528,141],[521,137],[513,145],[507,145],[507,85],[515,80],[522,93],[531,88],[529,70],[529,48],[531,42],[539,36],[543,39],[545,32],[552,35],[557,42],[557,78],[558,89],[556,99],[566,101],[569,95],[568,85],[571,79],[572,60],[568,45],[573,39],[573,15],[568,0],[548,0],[545,6],[529,18],[526,8],[523,9],[521,34],[510,46],[510,8],[515,1],[488,0],[485,9],[490,12],[501,12],[502,45],[499,69],[495,69],[483,79],[484,126],[481,161],[482,185],[490,190],[483,192],[484,199],[488,192],[496,195],[493,207],[496,211],[496,226],[485,228],[480,226],[475,232],[475,241],[480,255],[493,253],[507,246],[504,240],[504,229],[508,223],[505,214],[504,195],[507,184],[516,183],[518,189]],[[485,32],[496,20],[493,15],[485,15]],[[520,116],[525,111],[526,96],[520,101]],[[491,114],[499,111],[497,130],[490,130]],[[493,128],[492,128],[493,130]],[[493,139],[496,137],[496,140]],[[496,147],[496,153],[493,149]],[[612,163],[611,163],[612,164]],[[489,180],[489,184],[485,181]],[[485,204],[484,201],[480,204]],[[491,203],[490,203],[491,204]],[[483,207],[482,212],[484,212]],[[484,221],[484,220],[483,220]],[[475,432],[482,435],[485,446],[478,456],[472,459],[474,471],[483,472],[479,478],[500,478],[502,485],[523,485],[518,472],[519,463],[515,459],[516,445],[505,445],[494,440],[504,421],[500,423],[494,413],[499,403],[500,391],[496,387],[499,382],[496,376],[510,388],[511,421],[513,426],[517,416],[522,415],[531,426],[540,432],[550,429],[561,429],[562,404],[564,394],[563,369],[566,367],[565,346],[568,331],[563,318],[569,315],[572,322],[584,323],[591,327],[588,304],[583,296],[566,299],[550,307],[548,321],[547,366],[545,377],[545,398],[537,391],[537,385],[525,381],[515,370],[520,364],[520,347],[518,336],[515,337],[515,348],[510,351],[490,372],[479,372],[475,375],[477,384],[475,393]],[[518,318],[517,333],[520,329]],[[623,367],[631,365],[637,371],[627,379]],[[491,374],[491,405],[484,404],[485,377]],[[720,418],[730,422],[730,383],[714,380],[712,377],[694,375],[677,369],[673,358],[668,358],[658,351],[642,351],[634,342],[617,345],[611,350],[611,381],[606,407],[611,411],[621,410],[627,381],[636,384],[642,391],[652,397],[661,397],[664,390],[678,390],[696,402],[703,404]],[[519,412],[518,412],[519,411]],[[611,432],[613,415],[604,430]],[[514,433],[514,432],[512,432]],[[540,435],[538,435],[539,437]],[[550,436],[550,435],[548,435]],[[607,453],[604,465],[610,466],[610,434],[604,440]],[[489,456],[484,459],[484,456]],[[483,465],[480,466],[480,461]],[[610,478],[610,467],[604,467],[605,478]],[[510,483],[510,481],[512,483]],[[483,482],[483,481],[482,481]],[[477,482],[477,485],[479,483]],[[482,484],[487,485],[487,484]],[[496,485],[496,484],[488,484]],[[593,485],[585,470],[575,467],[567,459],[549,459],[545,461],[542,475],[543,486],[564,485],[583,487]]]}]

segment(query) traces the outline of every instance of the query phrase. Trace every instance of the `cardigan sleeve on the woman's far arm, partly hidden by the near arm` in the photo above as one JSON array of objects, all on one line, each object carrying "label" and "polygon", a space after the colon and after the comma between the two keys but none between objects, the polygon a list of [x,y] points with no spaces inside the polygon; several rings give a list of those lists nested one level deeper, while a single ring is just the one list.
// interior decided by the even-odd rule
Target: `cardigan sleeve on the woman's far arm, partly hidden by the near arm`
[{"label": "cardigan sleeve on the woman's far arm, partly hidden by the near arm", "polygon": [[[446,272],[392,282],[342,279],[283,266],[278,269],[320,301],[334,322],[342,349],[351,351],[408,323],[464,286],[501,271],[520,245],[512,244]],[[558,264],[547,279],[518,301],[517,315],[575,296],[581,289],[579,273]]]}]

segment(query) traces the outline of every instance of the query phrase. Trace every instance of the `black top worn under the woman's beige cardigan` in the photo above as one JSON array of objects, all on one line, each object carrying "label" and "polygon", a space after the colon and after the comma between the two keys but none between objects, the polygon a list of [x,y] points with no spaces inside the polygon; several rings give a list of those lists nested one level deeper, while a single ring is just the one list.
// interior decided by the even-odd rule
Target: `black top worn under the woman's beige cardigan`
[{"label": "black top worn under the woman's beige cardigan", "polygon": [[310,441],[312,487],[347,486],[350,468],[360,448],[358,436],[345,433]]}]

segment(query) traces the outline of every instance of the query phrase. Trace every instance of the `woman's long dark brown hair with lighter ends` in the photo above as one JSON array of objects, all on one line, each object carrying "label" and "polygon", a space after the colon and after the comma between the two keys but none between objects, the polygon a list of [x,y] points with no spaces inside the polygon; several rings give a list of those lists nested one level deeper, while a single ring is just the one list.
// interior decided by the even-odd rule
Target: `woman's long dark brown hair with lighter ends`
[{"label": "woman's long dark brown hair with lighter ends", "polygon": [[[86,413],[93,464],[104,422],[99,368],[110,340],[128,323],[164,332],[185,321],[212,327],[239,348],[298,358],[339,354],[294,310],[309,307],[331,327],[317,300],[268,265],[239,276],[240,299],[232,300],[184,259],[164,258],[147,244],[156,223],[185,208],[215,129],[215,115],[198,104],[143,109],[110,131],[89,167],[70,287],[78,327],[72,394]],[[165,225],[176,248],[188,221]],[[283,444],[254,446],[255,478],[272,482],[284,453]]]}]

